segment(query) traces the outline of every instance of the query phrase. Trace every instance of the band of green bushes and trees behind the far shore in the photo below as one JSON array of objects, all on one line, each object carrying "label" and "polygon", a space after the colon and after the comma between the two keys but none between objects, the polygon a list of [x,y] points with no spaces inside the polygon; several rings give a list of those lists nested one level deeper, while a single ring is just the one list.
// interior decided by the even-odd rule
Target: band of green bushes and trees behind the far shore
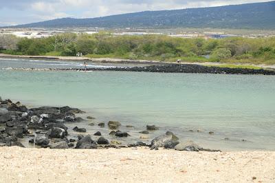
[{"label": "band of green bushes and trees behind the far shore", "polygon": [[227,63],[274,65],[275,37],[248,39],[182,39],[164,35],[114,36],[98,34],[57,34],[41,39],[21,39],[10,34],[0,36],[3,54],[31,56],[76,56],[121,58],[187,63]]}]

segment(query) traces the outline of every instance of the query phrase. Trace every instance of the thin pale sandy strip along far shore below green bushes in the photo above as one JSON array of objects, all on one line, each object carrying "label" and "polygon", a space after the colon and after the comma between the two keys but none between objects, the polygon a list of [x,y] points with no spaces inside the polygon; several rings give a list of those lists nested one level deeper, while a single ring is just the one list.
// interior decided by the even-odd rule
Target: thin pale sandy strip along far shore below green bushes
[{"label": "thin pale sandy strip along far shore below green bushes", "polygon": [[[0,58],[27,58],[27,59],[41,59],[52,61],[87,61],[93,63],[132,63],[132,64],[148,64],[148,65],[165,65],[165,64],[181,64],[181,65],[204,65],[204,66],[222,66],[230,63],[212,63],[212,62],[163,62],[163,61],[148,61],[148,60],[129,60],[123,58],[89,58],[86,56],[28,56],[28,55],[12,55],[12,54],[0,54]],[[256,64],[232,64],[239,66],[252,66],[261,67],[263,69],[275,69],[275,65],[256,65]]]}]

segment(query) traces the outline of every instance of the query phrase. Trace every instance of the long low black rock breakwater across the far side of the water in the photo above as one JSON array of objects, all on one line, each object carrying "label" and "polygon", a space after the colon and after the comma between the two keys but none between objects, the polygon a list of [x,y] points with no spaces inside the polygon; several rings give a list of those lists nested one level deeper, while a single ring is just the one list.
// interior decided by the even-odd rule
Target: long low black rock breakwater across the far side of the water
[{"label": "long low black rock breakwater across the far side of the water", "polygon": [[205,66],[196,64],[154,64],[135,65],[134,67],[88,67],[84,68],[0,68],[0,70],[21,71],[67,71],[67,72],[155,72],[155,73],[185,73],[185,74],[245,74],[245,75],[275,75],[275,69],[249,69]]}]

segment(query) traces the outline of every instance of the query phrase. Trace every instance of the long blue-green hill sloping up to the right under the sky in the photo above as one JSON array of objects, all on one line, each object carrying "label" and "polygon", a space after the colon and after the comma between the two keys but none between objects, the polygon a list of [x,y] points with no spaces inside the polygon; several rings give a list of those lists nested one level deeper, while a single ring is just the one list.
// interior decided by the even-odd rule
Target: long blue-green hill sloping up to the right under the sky
[{"label": "long blue-green hill sloping up to the right under the sky", "polygon": [[275,29],[275,1],[234,6],[146,11],[93,19],[54,19],[13,28],[250,28]]}]

